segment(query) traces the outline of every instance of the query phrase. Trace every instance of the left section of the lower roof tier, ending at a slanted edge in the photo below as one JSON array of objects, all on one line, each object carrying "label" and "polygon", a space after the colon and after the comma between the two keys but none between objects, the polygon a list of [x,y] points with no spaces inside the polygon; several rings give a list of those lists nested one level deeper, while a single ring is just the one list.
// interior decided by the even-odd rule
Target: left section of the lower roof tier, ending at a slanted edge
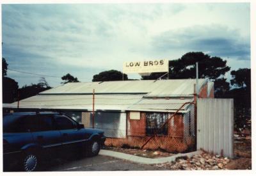
[{"label": "left section of the lower roof tier, ending at a slanted edge", "polygon": [[[123,111],[141,100],[142,97],[143,95],[95,95],[95,110]],[[92,95],[36,95],[20,100],[19,108],[92,111],[92,99]],[[10,104],[8,108],[17,108],[17,102]]]}]

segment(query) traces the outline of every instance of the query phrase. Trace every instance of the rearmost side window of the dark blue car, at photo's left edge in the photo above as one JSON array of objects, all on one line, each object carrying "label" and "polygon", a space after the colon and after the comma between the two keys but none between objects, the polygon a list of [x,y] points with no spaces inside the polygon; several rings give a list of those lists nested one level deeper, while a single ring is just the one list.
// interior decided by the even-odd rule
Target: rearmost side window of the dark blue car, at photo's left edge
[{"label": "rearmost side window of the dark blue car, at photo's left edge", "polygon": [[24,115],[4,115],[3,132],[15,131],[17,121],[20,119],[20,116],[24,116]]}]

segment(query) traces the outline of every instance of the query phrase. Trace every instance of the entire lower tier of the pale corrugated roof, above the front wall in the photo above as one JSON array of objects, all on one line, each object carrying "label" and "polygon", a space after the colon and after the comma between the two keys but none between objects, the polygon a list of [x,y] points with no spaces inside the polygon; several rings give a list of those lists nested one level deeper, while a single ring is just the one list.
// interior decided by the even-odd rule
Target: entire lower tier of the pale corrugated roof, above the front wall
[{"label": "entire lower tier of the pale corrugated roof, above the front wall", "polygon": [[[172,111],[193,99],[143,99],[143,95],[95,95],[95,111]],[[182,110],[186,110],[186,104]],[[17,102],[5,108],[17,108]],[[92,111],[92,95],[36,95],[20,100],[19,108]]]}]

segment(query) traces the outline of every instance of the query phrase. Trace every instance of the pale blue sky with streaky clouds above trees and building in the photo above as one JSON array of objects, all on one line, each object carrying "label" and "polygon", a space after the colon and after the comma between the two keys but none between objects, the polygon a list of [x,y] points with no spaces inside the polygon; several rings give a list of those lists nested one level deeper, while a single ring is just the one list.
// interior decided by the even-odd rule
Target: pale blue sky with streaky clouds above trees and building
[{"label": "pale blue sky with streaky clouds above trees and building", "polygon": [[13,70],[46,75],[54,87],[67,73],[90,82],[122,72],[124,61],[191,51],[221,57],[231,70],[251,68],[250,3],[2,4],[2,42],[7,76],[19,87],[40,76]]}]

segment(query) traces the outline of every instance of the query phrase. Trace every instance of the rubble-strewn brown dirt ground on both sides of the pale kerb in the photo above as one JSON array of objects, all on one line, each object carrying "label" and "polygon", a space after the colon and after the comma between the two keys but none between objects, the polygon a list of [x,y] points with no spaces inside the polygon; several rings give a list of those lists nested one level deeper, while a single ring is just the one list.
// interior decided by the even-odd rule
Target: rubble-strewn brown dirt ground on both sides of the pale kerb
[{"label": "rubble-strewn brown dirt ground on both sides of the pale kerb", "polygon": [[[161,150],[140,150],[134,148],[105,147],[105,150],[123,152],[135,156],[157,158],[168,157],[175,154]],[[204,153],[191,159],[177,159],[173,163],[158,164],[159,168],[170,170],[251,170],[252,169],[252,139],[246,136],[235,135],[234,137],[234,159],[214,156]]]}]

